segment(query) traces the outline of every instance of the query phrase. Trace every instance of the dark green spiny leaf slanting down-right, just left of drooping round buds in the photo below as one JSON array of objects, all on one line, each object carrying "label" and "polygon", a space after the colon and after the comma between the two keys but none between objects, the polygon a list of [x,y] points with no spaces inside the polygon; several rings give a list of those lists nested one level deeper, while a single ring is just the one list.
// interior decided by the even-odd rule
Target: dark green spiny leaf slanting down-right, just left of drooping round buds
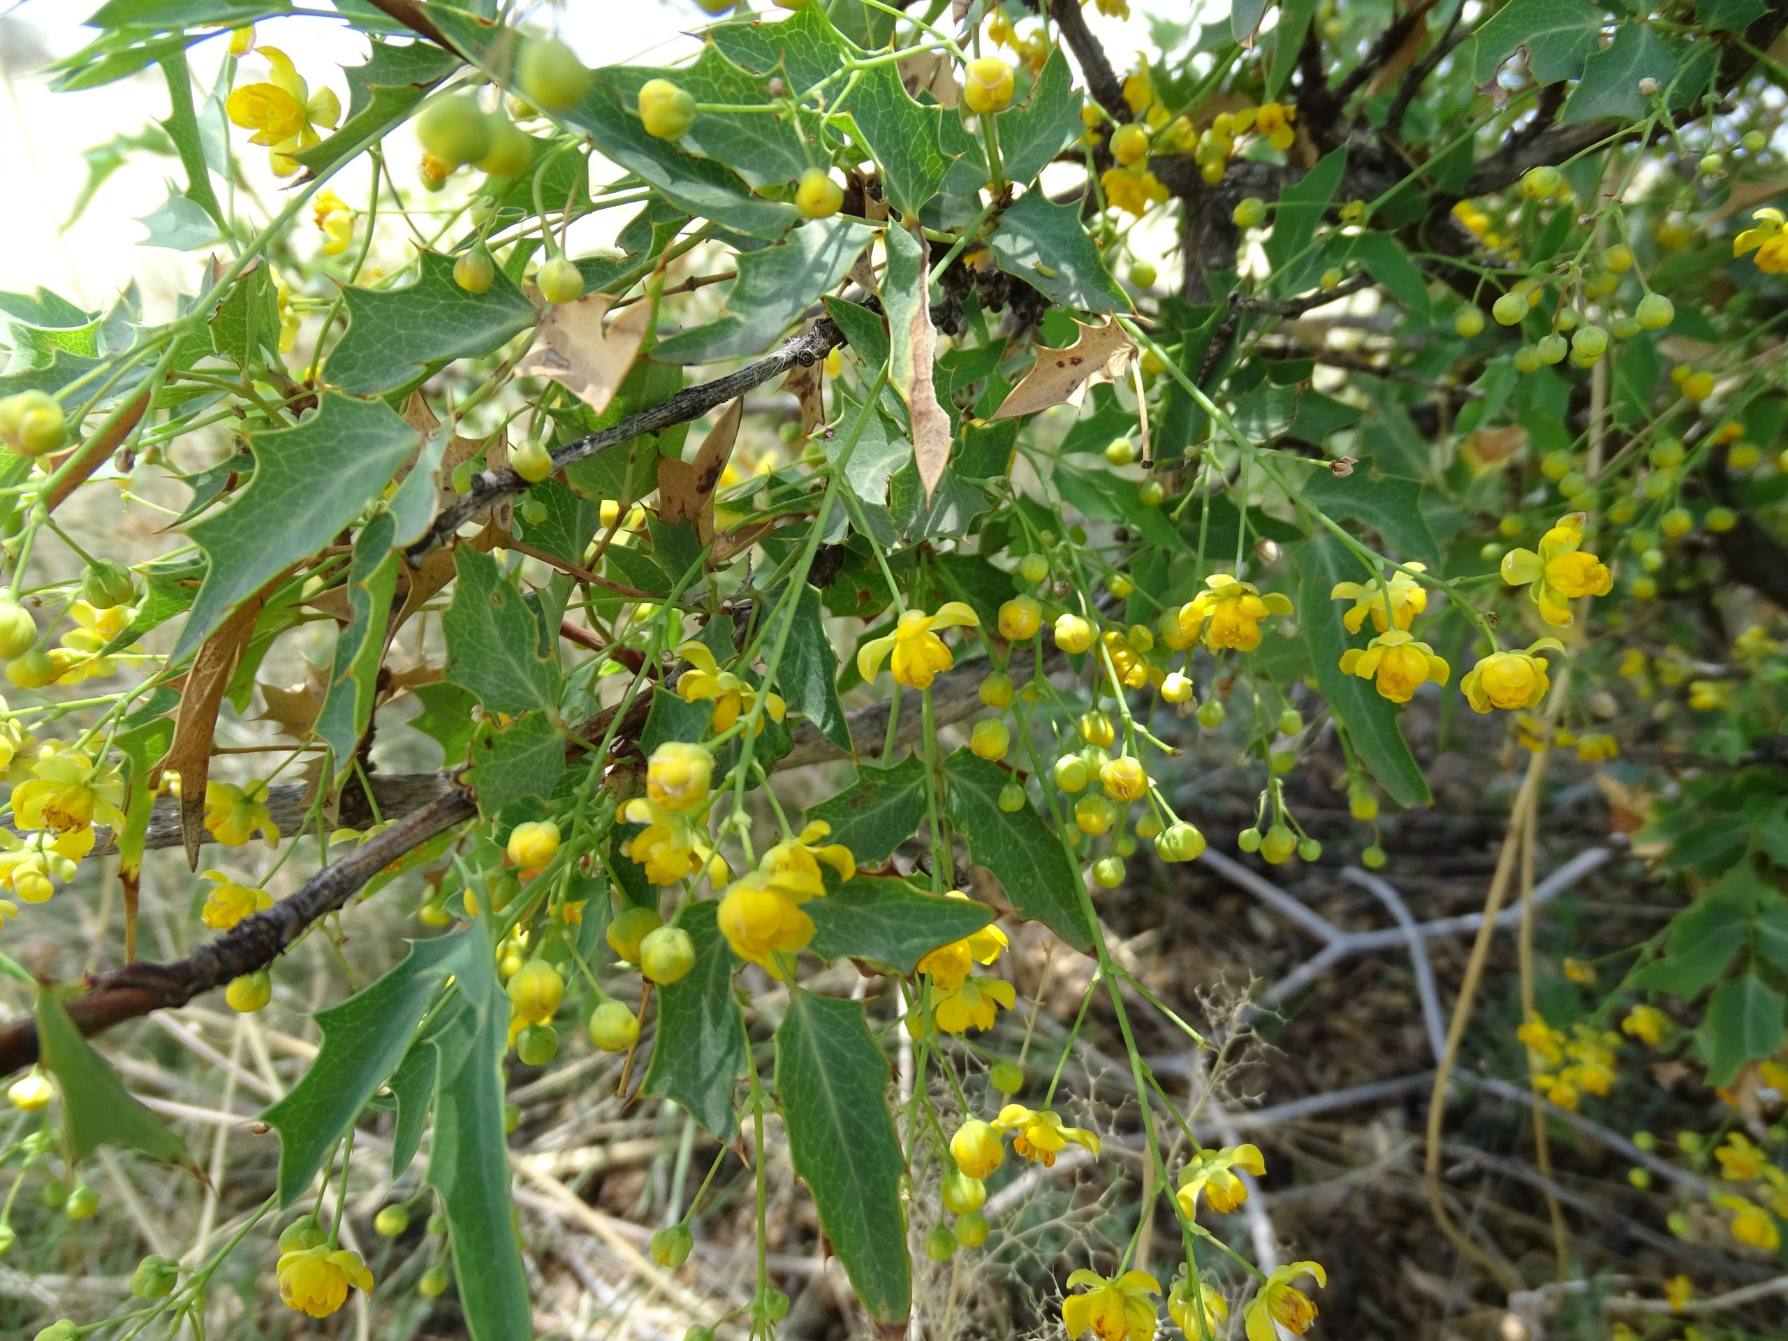
[{"label": "dark green spiny leaf slanting down-right, just left of drooping round buds", "polygon": [[969,860],[999,881],[1012,912],[1044,923],[1075,949],[1091,946],[1084,885],[1062,840],[1030,801],[1010,814],[999,808],[1012,774],[962,747],[944,760],[944,814],[969,840]]}]

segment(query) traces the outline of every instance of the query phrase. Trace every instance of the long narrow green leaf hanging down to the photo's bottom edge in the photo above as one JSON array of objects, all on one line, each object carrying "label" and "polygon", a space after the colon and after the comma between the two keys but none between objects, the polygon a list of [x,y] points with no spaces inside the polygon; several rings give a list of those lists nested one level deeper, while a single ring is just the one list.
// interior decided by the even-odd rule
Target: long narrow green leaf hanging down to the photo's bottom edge
[{"label": "long narrow green leaf hanging down to the photo's bottom edge", "polygon": [[460,1007],[433,1037],[434,1135],[427,1184],[452,1243],[460,1307],[472,1341],[531,1337],[527,1275],[515,1236],[510,1150],[502,1125],[502,1053],[510,1003],[497,983],[483,928],[460,973]]}]

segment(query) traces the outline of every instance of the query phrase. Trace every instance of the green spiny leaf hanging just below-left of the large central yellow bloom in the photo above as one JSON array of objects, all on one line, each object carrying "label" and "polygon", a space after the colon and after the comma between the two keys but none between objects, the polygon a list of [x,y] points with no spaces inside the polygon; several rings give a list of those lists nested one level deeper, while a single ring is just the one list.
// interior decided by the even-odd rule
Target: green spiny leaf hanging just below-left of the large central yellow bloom
[{"label": "green spiny leaf hanging just below-left of the large central yellow bloom", "polygon": [[696,967],[658,989],[658,1037],[640,1092],[681,1103],[712,1135],[731,1141],[738,1134],[733,1087],[751,1057],[733,996],[738,960],[715,923],[719,907],[690,901],[676,915],[696,944]]}]

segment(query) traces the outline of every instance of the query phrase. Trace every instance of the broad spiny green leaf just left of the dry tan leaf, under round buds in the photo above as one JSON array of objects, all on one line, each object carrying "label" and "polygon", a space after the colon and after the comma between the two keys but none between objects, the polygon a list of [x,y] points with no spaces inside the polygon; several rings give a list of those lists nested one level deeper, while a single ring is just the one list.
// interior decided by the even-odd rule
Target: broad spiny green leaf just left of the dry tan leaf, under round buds
[{"label": "broad spiny green leaf just left of the dry tan leaf, under round buds", "polygon": [[526,331],[533,304],[501,270],[485,293],[460,288],[454,257],[422,252],[422,274],[404,288],[342,290],[349,325],[329,350],[324,381],[354,395],[420,379],[427,365],[488,354]]}]

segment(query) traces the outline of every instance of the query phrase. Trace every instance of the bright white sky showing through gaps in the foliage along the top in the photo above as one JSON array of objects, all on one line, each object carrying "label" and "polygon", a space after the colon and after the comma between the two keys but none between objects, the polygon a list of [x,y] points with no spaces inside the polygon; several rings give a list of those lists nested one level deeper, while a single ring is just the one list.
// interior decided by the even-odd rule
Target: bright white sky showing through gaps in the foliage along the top
[{"label": "bright white sky showing through gaps in the foliage along the top", "polygon": [[[9,197],[0,211],[0,290],[30,291],[45,284],[84,308],[97,308],[109,304],[134,277],[150,315],[166,315],[177,291],[197,288],[206,256],[138,245],[145,231],[136,218],[168,195],[166,182],[179,173],[173,159],[139,156],[107,181],[73,227],[59,231],[88,175],[82,150],[166,114],[166,91],[156,66],[82,93],[50,93],[46,80],[34,73],[45,61],[77,52],[89,39],[93,30],[80,20],[97,7],[98,0],[21,0],[0,18],[0,70],[7,93],[7,105],[0,109],[0,182],[7,184]],[[1180,4],[1166,0],[1162,7],[1180,11]],[[1137,11],[1135,18],[1119,21],[1087,7],[1119,63],[1146,45],[1141,5]],[[694,0],[585,0],[563,5],[560,30],[592,66],[674,63],[696,50],[685,29],[706,21]],[[257,41],[284,50],[313,88],[327,82],[343,104],[347,84],[338,68],[359,64],[367,55],[361,36],[318,18],[263,21]],[[222,38],[191,50],[200,88],[209,86],[222,57]],[[249,70],[257,77],[261,64],[250,59]],[[352,204],[352,191],[363,186],[352,170],[343,179],[349,184],[338,190]],[[257,184],[268,193],[263,198],[279,190],[272,177]]]}]

